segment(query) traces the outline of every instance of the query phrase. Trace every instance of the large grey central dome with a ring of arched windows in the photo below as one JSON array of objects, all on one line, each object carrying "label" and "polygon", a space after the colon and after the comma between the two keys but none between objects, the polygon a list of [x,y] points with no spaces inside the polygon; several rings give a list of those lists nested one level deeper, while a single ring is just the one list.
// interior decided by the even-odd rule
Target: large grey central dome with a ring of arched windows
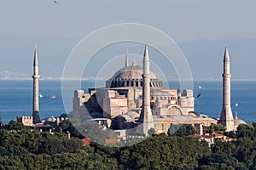
[{"label": "large grey central dome with a ring of arched windows", "polygon": [[[114,73],[106,82],[106,88],[143,87],[143,67],[135,62]],[[150,71],[150,87],[163,87],[163,83]]]}]

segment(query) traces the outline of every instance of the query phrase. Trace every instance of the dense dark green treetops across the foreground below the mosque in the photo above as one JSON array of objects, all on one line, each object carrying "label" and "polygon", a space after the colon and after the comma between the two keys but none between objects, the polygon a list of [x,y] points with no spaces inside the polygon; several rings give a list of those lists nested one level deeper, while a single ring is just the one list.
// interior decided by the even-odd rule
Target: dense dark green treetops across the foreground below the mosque
[{"label": "dense dark green treetops across the foreground below the mosque", "polygon": [[185,136],[194,133],[191,127],[122,148],[84,146],[79,138],[67,139],[67,133],[39,132],[15,122],[5,128],[0,130],[0,169],[256,169],[253,125],[241,125],[237,133],[228,133],[236,140],[217,140],[211,148]]}]

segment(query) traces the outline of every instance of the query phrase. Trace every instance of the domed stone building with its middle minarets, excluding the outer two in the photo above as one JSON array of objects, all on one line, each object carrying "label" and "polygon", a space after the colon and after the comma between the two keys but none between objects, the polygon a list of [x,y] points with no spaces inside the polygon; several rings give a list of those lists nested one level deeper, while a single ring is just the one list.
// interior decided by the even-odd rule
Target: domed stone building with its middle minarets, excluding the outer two
[{"label": "domed stone building with its middle minarets, excluding the outer two", "polygon": [[218,120],[195,113],[192,89],[165,88],[150,71],[148,47],[144,49],[143,67],[133,62],[108,79],[105,88],[90,88],[88,94],[76,90],[73,97],[73,116],[97,122],[106,127],[129,129],[140,126],[145,134],[150,128],[167,133],[173,123],[209,126]]}]

